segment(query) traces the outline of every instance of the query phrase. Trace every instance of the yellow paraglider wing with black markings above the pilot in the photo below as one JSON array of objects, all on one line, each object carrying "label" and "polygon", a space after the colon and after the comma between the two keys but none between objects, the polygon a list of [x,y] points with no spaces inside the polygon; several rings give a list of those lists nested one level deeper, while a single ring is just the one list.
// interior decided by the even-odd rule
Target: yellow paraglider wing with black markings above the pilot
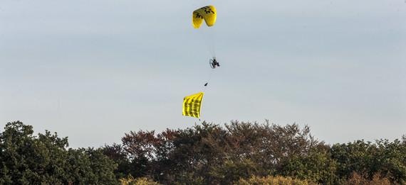
[{"label": "yellow paraglider wing with black markings above the pilot", "polygon": [[194,28],[202,26],[203,19],[206,21],[207,26],[213,26],[216,23],[217,11],[214,6],[204,6],[200,9],[193,11],[192,23]]}]

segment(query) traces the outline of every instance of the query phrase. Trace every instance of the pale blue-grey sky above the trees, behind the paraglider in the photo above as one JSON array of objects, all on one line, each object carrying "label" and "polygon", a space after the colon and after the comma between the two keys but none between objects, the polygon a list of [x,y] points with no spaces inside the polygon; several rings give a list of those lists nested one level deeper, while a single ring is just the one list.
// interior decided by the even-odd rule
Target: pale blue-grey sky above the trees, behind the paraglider
[{"label": "pale blue-grey sky above the trees, behind the paraglider", "polygon": [[[206,5],[216,25],[192,28]],[[120,143],[201,123],[182,116],[199,91],[201,121],[401,138],[406,1],[0,0],[0,131],[21,120],[70,147]]]}]

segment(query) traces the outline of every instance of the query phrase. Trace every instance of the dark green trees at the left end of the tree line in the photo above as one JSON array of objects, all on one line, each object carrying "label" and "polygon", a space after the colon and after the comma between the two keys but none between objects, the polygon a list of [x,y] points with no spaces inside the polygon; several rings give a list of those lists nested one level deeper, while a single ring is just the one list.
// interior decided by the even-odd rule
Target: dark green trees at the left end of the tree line
[{"label": "dark green trees at the left end of the tree line", "polygon": [[67,149],[56,133],[7,123],[0,134],[0,184],[116,184],[115,164],[101,150]]}]

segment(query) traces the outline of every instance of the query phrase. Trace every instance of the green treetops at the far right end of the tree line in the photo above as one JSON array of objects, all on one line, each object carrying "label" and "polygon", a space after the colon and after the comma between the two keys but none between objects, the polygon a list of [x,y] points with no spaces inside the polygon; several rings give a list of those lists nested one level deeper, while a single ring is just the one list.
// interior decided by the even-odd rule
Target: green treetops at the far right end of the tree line
[{"label": "green treetops at the far right end of the tree line", "polygon": [[357,140],[333,145],[331,153],[341,179],[348,179],[353,172],[373,179],[378,173],[392,183],[406,182],[406,145],[400,140],[377,140],[375,144]]}]

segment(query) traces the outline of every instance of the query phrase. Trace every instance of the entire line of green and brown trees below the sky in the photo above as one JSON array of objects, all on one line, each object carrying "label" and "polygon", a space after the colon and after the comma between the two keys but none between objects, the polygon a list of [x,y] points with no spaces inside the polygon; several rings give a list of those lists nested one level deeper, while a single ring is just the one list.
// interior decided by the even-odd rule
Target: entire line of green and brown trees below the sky
[{"label": "entire line of green and brown trees below the sky", "polygon": [[231,121],[121,141],[73,149],[57,133],[7,123],[0,184],[406,184],[405,135],[328,145],[308,126]]}]

